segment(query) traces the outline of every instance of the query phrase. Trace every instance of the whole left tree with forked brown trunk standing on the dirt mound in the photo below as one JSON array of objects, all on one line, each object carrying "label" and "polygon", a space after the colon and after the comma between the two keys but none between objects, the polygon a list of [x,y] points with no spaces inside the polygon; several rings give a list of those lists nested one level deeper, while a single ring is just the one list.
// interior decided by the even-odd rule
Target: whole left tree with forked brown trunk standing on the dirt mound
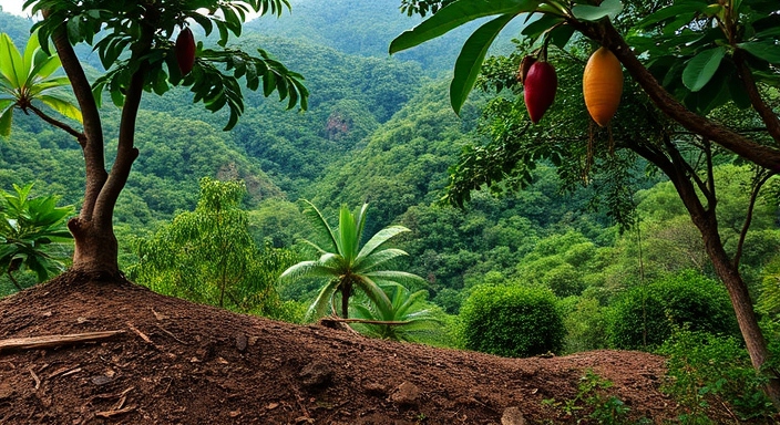
[{"label": "whole left tree with forked brown trunk standing on the dirt mound", "polygon": [[[284,8],[289,8],[286,0],[28,0],[24,7],[43,15],[33,31],[38,31],[44,52],[50,52],[53,43],[83,118],[81,129],[47,120],[72,134],[84,155],[84,199],[79,216],[68,224],[75,240],[73,272],[102,280],[121,279],[112,217],[138,156],[134,138],[144,92],[162,95],[172,86],[186,86],[194,102],[202,102],[212,112],[227,106],[225,129],[230,129],[244,111],[242,79],[249,90],[263,84],[266,96],[278,93],[280,100],[288,101],[288,107],[306,107],[308,92],[300,75],[261,49],[250,55],[227,46],[230,34],[240,35],[248,13],[280,15]],[[216,29],[218,46],[196,44],[189,30],[194,24],[206,34]],[[107,70],[93,82],[73,50],[79,43],[92,45]],[[116,156],[110,170],[104,149],[113,136],[104,133],[100,113],[104,91],[122,108]]]}]

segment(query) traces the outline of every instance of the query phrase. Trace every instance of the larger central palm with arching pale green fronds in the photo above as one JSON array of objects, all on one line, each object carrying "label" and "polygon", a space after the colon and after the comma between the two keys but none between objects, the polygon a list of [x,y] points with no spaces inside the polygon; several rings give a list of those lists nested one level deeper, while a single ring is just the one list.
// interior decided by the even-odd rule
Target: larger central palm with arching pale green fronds
[{"label": "larger central palm with arching pale green fronds", "polygon": [[349,315],[349,298],[355,289],[362,291],[368,299],[380,309],[390,310],[390,299],[380,288],[384,283],[400,283],[404,281],[420,281],[417,274],[404,271],[391,270],[389,265],[408,253],[388,248],[388,241],[402,232],[409,231],[403,226],[389,226],[377,232],[366,245],[360,246],[363,227],[366,226],[366,211],[368,204],[356,214],[349,208],[341,207],[339,211],[339,226],[331,228],[322,214],[311,203],[305,200],[307,208],[304,214],[309,218],[316,234],[322,239],[321,243],[306,240],[319,253],[319,259],[301,261],[281,273],[280,280],[296,281],[299,279],[322,279],[326,283],[309,308],[307,319],[326,315],[328,304],[336,313],[336,292],[341,293],[341,315]]}]

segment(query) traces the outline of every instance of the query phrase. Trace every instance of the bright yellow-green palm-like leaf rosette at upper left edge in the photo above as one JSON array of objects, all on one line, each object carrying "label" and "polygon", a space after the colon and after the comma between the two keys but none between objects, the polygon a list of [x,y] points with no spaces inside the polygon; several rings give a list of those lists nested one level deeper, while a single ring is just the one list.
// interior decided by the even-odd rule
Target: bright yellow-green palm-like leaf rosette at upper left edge
[{"label": "bright yellow-green palm-like leaf rosette at upper left edge", "polygon": [[81,132],[52,118],[37,106],[40,102],[69,118],[81,122],[81,111],[59,92],[61,87],[70,86],[70,81],[66,76],[52,75],[60,66],[58,56],[49,55],[41,49],[38,33],[30,37],[23,55],[8,34],[0,34],[0,136],[7,137],[11,134],[13,110],[20,108],[25,114],[32,111],[47,123],[64,129],[82,142]]}]

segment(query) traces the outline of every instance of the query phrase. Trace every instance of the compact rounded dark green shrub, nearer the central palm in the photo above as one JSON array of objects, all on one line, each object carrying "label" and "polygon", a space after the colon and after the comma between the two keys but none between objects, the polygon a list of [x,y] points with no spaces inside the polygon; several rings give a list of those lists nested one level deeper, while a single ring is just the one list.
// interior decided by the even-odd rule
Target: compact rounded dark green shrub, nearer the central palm
[{"label": "compact rounded dark green shrub, nearer the central palm", "polygon": [[560,351],[565,334],[556,298],[543,288],[478,287],[461,308],[463,348],[510,357]]}]

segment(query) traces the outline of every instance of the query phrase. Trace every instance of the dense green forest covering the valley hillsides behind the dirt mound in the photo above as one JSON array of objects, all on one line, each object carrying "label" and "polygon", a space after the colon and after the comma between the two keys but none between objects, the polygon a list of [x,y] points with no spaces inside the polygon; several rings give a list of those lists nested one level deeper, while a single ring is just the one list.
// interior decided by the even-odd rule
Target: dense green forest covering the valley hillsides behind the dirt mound
[{"label": "dense green forest covering the valley hillsides behind the dirt mound", "polygon": [[[733,367],[741,374],[729,379],[747,380],[745,387],[758,392],[701,237],[657,170],[637,157],[622,158],[622,201],[633,209],[628,227],[615,220],[606,185],[572,184],[551,162],[540,163],[520,190],[474,191],[463,209],[453,208],[442,201],[449,169],[466,146],[490,139],[495,99],[513,95],[483,81],[485,91],[473,93],[455,115],[442,77],[456,54],[449,39],[387,56],[391,38],[414,23],[398,1],[291,4],[291,19],[253,21],[238,42],[261,41],[305,76],[307,112],[286,112],[273,96],[245,93],[242,120],[222,132],[225,117],[193,105],[184,90],[145,97],[136,135],[141,156],[115,211],[120,266],[132,279],[198,302],[300,322],[322,282],[279,283],[278,277],[324,253],[302,241],[318,237],[302,200],[330,226],[342,206],[356,210],[367,203],[362,242],[403,226],[409,231],[392,246],[406,255],[394,256],[392,266],[422,279],[380,284],[388,299],[382,308],[374,308],[382,293],[351,293],[348,315],[368,321],[353,325],[361,332],[502,355],[618,348],[660,350],[677,361],[689,355],[681,348],[689,339],[681,335],[694,334],[717,355],[739,359]],[[30,25],[0,12],[0,28],[17,46],[27,42]],[[499,50],[515,48],[512,31]],[[80,54],[95,74],[101,71],[92,53]],[[771,95],[777,105],[778,93]],[[110,102],[103,107],[114,126],[106,134],[115,134],[120,112]],[[0,143],[0,189],[32,183],[31,196],[57,195],[59,205],[78,210],[84,172],[75,142],[34,116],[18,114],[13,125]],[[721,237],[735,250],[756,176],[729,157],[719,158],[714,173]],[[759,194],[741,258],[770,334],[780,328],[778,194],[774,178]],[[16,222],[7,204],[0,212]],[[66,262],[63,246],[57,249]],[[203,266],[207,259],[214,262]],[[0,277],[0,296],[39,280],[34,270],[13,271],[12,279],[10,271]],[[340,312],[345,301],[333,299],[332,310]],[[517,311],[531,319],[519,320]],[[414,328],[404,333],[392,322]],[[538,338],[528,328],[535,322],[548,326]],[[712,377],[706,364],[716,354],[688,366]],[[756,404],[747,411],[762,414],[766,401]]]}]

